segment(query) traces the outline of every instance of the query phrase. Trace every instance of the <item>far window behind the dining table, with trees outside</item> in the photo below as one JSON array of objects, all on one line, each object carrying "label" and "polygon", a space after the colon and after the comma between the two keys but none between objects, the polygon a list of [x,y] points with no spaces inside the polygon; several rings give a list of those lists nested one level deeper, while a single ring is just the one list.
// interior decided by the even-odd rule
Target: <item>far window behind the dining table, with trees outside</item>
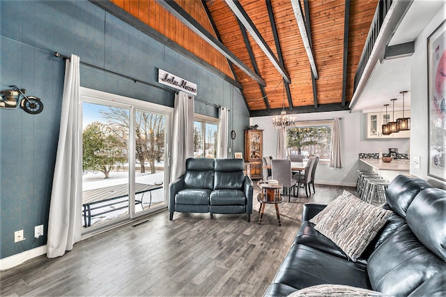
[{"label": "far window behind the dining table, with trees outside", "polygon": [[332,123],[305,122],[286,130],[286,153],[303,155],[305,159],[318,156],[330,161],[332,143]]}]

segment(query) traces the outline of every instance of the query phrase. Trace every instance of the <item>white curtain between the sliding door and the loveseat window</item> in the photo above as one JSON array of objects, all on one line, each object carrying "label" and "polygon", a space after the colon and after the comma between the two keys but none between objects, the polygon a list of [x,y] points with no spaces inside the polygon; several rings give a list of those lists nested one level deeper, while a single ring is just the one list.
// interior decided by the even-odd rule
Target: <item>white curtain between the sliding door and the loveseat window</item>
[{"label": "white curtain between the sliding door and the loveseat window", "polygon": [[194,155],[194,98],[175,94],[174,131],[171,142],[171,181],[186,171],[186,159]]}]

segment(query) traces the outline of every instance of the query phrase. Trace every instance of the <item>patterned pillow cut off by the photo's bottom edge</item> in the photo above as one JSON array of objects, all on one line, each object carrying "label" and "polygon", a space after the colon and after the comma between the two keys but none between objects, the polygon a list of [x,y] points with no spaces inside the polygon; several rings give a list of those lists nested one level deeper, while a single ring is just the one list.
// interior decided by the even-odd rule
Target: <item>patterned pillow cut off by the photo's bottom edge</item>
[{"label": "patterned pillow cut off by the photo's bottom edge", "polygon": [[288,297],[319,297],[319,296],[349,296],[349,297],[385,297],[387,295],[361,289],[357,287],[346,286],[344,284],[318,284],[291,293]]}]

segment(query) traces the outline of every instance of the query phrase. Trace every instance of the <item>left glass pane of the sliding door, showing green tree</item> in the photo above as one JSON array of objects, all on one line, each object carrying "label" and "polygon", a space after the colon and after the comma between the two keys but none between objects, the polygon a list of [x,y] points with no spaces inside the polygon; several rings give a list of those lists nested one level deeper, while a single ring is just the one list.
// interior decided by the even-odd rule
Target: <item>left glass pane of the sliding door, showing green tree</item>
[{"label": "left glass pane of the sliding door, showing green tree", "polygon": [[129,215],[130,109],[82,104],[84,227]]}]

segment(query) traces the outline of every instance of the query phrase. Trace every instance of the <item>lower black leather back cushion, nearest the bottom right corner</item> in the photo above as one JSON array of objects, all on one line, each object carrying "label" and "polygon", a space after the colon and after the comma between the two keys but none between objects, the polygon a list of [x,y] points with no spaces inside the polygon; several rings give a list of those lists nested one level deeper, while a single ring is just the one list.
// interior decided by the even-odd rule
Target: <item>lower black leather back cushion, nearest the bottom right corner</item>
[{"label": "lower black leather back cushion, nearest the bottom right corner", "polygon": [[446,263],[420,243],[404,224],[371,254],[367,271],[375,291],[408,296],[436,273],[446,271]]}]

